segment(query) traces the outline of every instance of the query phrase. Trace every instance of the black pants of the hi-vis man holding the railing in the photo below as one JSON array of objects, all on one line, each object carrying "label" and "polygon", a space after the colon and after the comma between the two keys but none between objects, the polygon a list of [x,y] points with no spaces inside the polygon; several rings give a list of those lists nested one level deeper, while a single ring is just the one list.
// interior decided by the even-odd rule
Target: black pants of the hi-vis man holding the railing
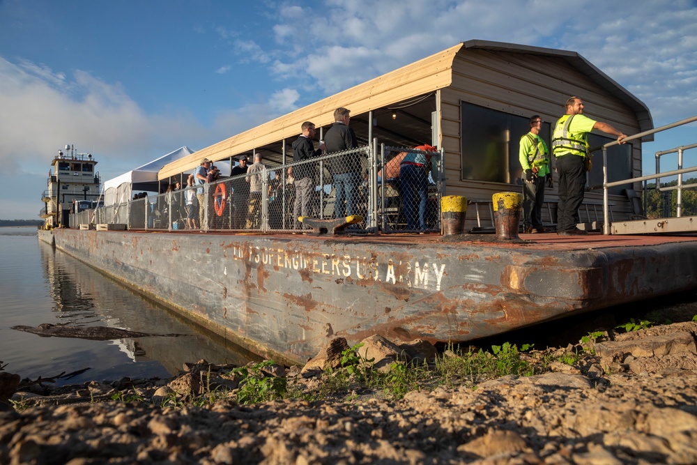
[{"label": "black pants of the hi-vis man holding the railing", "polygon": [[570,231],[579,223],[579,207],[585,193],[583,157],[568,153],[557,158],[559,203],[557,231]]}]

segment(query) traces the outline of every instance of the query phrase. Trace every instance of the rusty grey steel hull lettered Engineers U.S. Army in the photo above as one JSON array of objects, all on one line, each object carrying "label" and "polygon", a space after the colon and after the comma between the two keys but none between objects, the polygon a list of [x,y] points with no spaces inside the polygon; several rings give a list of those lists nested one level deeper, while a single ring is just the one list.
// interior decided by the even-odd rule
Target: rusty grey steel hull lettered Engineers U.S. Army
[{"label": "rusty grey steel hull lettered Engineers U.S. Army", "polygon": [[236,344],[292,363],[336,336],[349,344],[374,334],[464,342],[697,286],[694,238],[627,244],[538,235],[535,243],[501,244],[466,236],[53,233],[59,250]]}]

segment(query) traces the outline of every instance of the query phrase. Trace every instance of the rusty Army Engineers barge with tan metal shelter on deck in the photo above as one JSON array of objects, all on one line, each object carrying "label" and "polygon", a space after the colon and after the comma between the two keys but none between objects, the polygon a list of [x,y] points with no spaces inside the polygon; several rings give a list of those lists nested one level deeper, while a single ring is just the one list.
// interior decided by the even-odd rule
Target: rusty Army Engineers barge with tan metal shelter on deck
[{"label": "rusty Army Engineers barge with tan metal shelter on deck", "polygon": [[[304,363],[333,337],[349,344],[375,334],[465,342],[696,289],[694,235],[497,241],[441,234],[438,206],[446,194],[469,199],[463,231],[493,232],[491,196],[520,190],[512,135],[526,132],[521,122],[531,114],[554,121],[567,97],[579,94],[596,119],[638,135],[611,147],[610,161],[595,163],[588,176],[588,185],[600,183],[604,192],[588,193],[579,227],[607,234],[606,216],[616,225],[641,213],[630,194],[641,188],[641,142],[652,139],[648,108],[575,52],[470,40],[173,160],[147,180],[154,188],[115,185],[104,208],[39,235],[226,340],[286,363]],[[337,107],[351,109],[360,147],[293,162],[289,142],[302,122],[313,121],[321,138]],[[541,135],[549,139],[549,122]],[[608,142],[592,136],[592,145]],[[424,143],[435,147],[429,156],[437,169],[427,230],[413,231],[404,225],[401,199],[388,193],[399,189],[381,175],[397,153]],[[254,216],[234,208],[238,181],[250,176],[240,174],[206,183],[202,222],[184,230],[178,216],[185,191],[159,194],[164,185],[186,185],[201,160],[234,167],[240,155],[262,155],[266,164]],[[328,220],[336,201],[332,158],[354,155],[365,172],[357,229],[293,229],[293,170],[312,173],[312,216]],[[624,188],[608,188],[622,179],[629,180]],[[136,190],[158,193],[132,200]],[[556,199],[549,190],[547,224],[556,222]],[[246,222],[235,221],[240,213]]]}]

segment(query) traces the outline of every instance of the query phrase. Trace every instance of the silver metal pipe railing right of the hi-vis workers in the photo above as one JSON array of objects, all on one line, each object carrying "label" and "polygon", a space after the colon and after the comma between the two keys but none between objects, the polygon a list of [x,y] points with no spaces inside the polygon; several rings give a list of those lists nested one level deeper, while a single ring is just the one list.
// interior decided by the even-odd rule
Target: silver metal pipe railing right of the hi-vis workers
[{"label": "silver metal pipe railing right of the hi-vis workers", "polygon": [[[622,144],[624,144],[625,142],[629,142],[631,140],[641,139],[641,137],[652,135],[652,134],[655,134],[657,132],[665,131],[665,130],[672,129],[672,128],[677,128],[677,126],[689,124],[689,123],[692,123],[694,121],[697,121],[697,116],[692,116],[691,118],[683,119],[682,121],[676,121],[675,123],[667,124],[667,125],[661,126],[660,128],[655,128],[652,130],[639,132],[638,134],[635,134],[635,135],[626,137],[625,139],[622,139]],[[612,188],[612,187],[615,187],[618,185],[625,185],[625,184],[631,184],[631,183],[636,183],[636,182],[641,182],[641,181],[648,181],[651,179],[657,180],[656,185],[658,188],[658,185],[659,185],[658,180],[661,177],[676,176],[676,175],[679,176],[678,183],[680,185],[680,183],[682,183],[682,174],[697,171],[697,166],[689,167],[689,168],[682,168],[682,152],[687,148],[693,148],[693,147],[697,146],[697,144],[693,144],[691,146],[682,146],[682,147],[678,147],[678,148],[673,148],[671,151],[665,151],[664,153],[657,152],[656,153],[656,158],[657,158],[656,171],[657,171],[657,174],[651,174],[649,176],[638,176],[636,178],[623,179],[621,181],[613,181],[611,183],[608,183],[607,149],[608,149],[608,147],[611,147],[613,145],[619,145],[619,144],[620,144],[620,142],[615,140],[613,142],[608,142],[607,144],[602,146],[602,151],[603,151],[603,215],[604,215],[603,234],[605,234],[605,235],[610,234],[610,221],[608,219],[609,218],[608,217],[608,203],[609,203],[608,202],[608,189],[609,188]],[[661,173],[660,172],[659,157],[661,155],[664,155],[665,153],[675,153],[676,151],[678,153],[680,153],[680,159],[678,161],[678,163],[679,163],[678,169],[675,169],[673,171],[666,171],[665,173]],[[659,153],[661,155],[659,155]],[[682,190],[682,187],[679,188],[678,195],[680,195],[681,190]],[[680,204],[680,197],[679,197],[678,204]]]}]

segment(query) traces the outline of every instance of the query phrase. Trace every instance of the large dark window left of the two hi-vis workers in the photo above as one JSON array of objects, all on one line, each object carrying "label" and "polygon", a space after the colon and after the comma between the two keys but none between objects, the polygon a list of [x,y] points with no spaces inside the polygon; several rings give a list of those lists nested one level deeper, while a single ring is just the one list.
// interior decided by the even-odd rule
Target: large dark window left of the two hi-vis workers
[{"label": "large dark window left of the two hi-vis workers", "polygon": [[[529,116],[518,116],[461,102],[462,179],[518,184],[520,138],[530,132]],[[530,115],[532,116],[532,114]],[[540,137],[550,146],[549,121]]]}]

